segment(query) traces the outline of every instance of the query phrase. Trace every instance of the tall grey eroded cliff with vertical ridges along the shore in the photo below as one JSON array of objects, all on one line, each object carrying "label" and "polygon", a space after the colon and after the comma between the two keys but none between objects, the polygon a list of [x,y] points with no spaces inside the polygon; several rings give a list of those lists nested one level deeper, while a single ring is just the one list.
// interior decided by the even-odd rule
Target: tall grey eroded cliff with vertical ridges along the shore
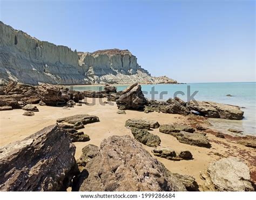
[{"label": "tall grey eroded cliff with vertical ridges along the shore", "polygon": [[176,83],[152,77],[128,50],[72,51],[0,22],[0,78],[38,84]]}]

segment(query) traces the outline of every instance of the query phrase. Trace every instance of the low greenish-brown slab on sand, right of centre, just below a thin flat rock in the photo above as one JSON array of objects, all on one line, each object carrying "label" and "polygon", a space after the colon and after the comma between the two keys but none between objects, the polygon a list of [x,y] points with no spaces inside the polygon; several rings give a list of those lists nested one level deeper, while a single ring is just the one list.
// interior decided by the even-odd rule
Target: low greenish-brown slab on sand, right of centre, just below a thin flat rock
[{"label": "low greenish-brown slab on sand, right of centre, just below a thin flat rock", "polygon": [[200,133],[188,133],[185,131],[181,131],[178,134],[174,134],[174,137],[181,143],[185,143],[188,145],[199,146],[210,148],[211,144],[207,137]]}]

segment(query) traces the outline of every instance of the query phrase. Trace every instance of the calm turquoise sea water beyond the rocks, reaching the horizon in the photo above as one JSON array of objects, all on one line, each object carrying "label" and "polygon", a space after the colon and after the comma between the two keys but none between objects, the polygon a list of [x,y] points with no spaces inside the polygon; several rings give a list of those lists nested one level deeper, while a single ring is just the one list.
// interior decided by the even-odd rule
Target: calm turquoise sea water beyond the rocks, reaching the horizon
[{"label": "calm turquoise sea water beyond the rocks, reaching the horizon", "polygon": [[[116,85],[117,90],[123,90],[128,85]],[[75,90],[103,90],[104,86],[80,85]],[[227,132],[228,128],[238,128],[244,134],[256,135],[256,82],[239,83],[187,83],[187,84],[156,84],[142,85],[146,98],[166,100],[177,95],[184,101],[191,96],[197,101],[212,101],[224,104],[238,105],[244,111],[242,120],[210,119],[214,128]],[[193,96],[193,93],[197,93]],[[153,94],[153,95],[152,95]],[[232,95],[226,96],[226,95]]]}]

